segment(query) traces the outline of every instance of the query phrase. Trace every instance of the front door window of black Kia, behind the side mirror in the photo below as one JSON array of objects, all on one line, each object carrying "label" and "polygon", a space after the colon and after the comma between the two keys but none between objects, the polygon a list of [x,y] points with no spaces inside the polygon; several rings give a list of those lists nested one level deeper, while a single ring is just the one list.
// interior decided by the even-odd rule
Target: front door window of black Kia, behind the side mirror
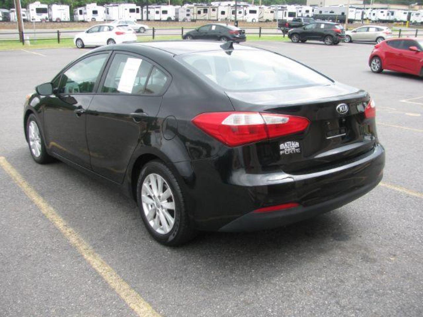
[{"label": "front door window of black Kia, behind the side mirror", "polygon": [[71,66],[62,75],[59,93],[92,93],[108,55],[92,55]]}]

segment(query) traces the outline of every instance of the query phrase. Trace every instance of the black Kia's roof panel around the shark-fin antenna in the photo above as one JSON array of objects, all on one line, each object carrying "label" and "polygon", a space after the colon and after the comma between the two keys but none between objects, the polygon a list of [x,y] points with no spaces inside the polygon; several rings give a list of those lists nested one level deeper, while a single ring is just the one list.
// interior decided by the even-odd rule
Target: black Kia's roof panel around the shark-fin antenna
[{"label": "black Kia's roof panel around the shark-fin antenna", "polygon": [[[133,44],[124,44],[126,47],[132,46],[134,50],[137,47],[141,48],[143,46],[148,46],[162,51],[168,52],[172,55],[180,55],[187,53],[196,53],[196,52],[207,52],[207,51],[218,51],[221,50],[222,42],[218,41],[162,41],[162,42],[149,42],[149,43],[133,43]],[[255,47],[243,46],[239,44],[233,44],[235,50],[259,50]]]}]

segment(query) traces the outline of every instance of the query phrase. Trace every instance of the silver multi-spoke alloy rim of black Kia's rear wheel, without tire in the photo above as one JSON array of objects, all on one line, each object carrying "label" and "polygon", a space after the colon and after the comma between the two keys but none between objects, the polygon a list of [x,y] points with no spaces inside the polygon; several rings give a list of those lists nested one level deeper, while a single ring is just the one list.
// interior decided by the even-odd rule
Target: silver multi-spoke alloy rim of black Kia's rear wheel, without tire
[{"label": "silver multi-spoke alloy rim of black Kia's rear wheel, without tire", "polygon": [[162,235],[169,233],[175,223],[175,199],[162,176],[155,173],[146,176],[141,189],[141,201],[151,228]]}]

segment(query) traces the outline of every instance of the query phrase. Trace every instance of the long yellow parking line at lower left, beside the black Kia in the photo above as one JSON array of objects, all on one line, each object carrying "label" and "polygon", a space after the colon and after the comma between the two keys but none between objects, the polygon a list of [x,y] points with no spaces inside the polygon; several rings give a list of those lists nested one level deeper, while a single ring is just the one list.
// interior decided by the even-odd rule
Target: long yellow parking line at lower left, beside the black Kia
[{"label": "long yellow parking line at lower left, beside the black Kia", "polygon": [[38,195],[4,156],[0,156],[0,166],[135,313],[139,316],[160,316],[74,229],[66,224],[58,213]]}]

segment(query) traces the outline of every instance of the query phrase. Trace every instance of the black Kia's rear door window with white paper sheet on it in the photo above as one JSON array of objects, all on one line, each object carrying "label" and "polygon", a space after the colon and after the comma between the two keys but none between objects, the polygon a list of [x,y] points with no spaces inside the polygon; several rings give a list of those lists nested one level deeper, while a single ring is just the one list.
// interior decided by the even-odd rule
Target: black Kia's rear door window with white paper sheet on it
[{"label": "black Kia's rear door window with white paper sheet on it", "polygon": [[144,93],[147,77],[153,66],[140,57],[126,54],[116,54],[113,57],[102,93]]}]

